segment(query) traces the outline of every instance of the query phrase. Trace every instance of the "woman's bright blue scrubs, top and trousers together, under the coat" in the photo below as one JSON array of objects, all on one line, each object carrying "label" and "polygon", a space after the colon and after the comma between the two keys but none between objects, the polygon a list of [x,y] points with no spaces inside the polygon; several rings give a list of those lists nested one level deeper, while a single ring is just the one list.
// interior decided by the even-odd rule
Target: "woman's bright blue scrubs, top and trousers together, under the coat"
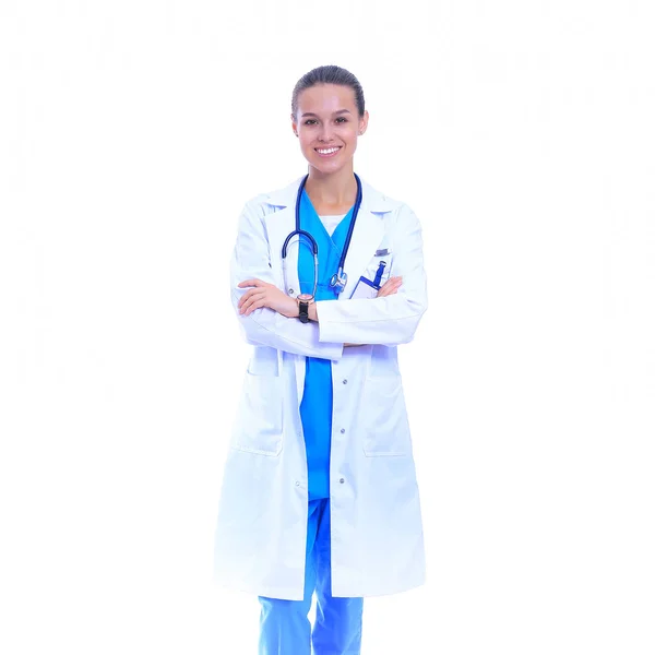
[{"label": "woman's bright blue scrubs, top and trousers together, under the coat", "polygon": [[[338,267],[353,207],[332,236],[323,226],[306,191],[300,199],[300,227],[319,247],[315,300],[336,300],[330,278]],[[309,241],[301,237],[298,253],[300,291],[313,291],[314,264]],[[260,596],[260,655],[359,655],[364,598],[332,596],[330,564],[330,443],[332,434],[332,362],[306,358],[305,391],[300,403],[308,471],[308,525],[305,598],[283,600]],[[317,592],[313,631],[308,618]]]}]

